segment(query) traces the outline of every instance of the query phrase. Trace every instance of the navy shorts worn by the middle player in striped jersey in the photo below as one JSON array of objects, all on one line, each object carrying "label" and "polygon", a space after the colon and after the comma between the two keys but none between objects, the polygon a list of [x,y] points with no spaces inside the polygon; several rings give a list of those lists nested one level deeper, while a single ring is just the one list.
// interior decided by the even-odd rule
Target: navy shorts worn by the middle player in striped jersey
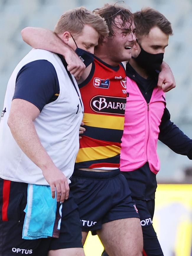
[{"label": "navy shorts worn by the middle player in striped jersey", "polygon": [[118,219],[139,218],[127,181],[119,169],[106,172],[75,170],[70,190],[79,207],[82,231],[96,231],[103,223]]}]

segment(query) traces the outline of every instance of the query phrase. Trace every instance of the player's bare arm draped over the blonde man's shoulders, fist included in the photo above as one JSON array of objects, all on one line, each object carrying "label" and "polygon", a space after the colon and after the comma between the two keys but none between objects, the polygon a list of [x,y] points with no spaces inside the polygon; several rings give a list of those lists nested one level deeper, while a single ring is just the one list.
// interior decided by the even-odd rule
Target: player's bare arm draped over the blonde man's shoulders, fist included
[{"label": "player's bare arm draped over the blonde man's shoulders, fist included", "polygon": [[35,49],[43,49],[64,56],[67,69],[76,79],[81,77],[85,65],[74,50],[64,43],[53,31],[40,27],[26,27],[21,31],[23,40]]}]

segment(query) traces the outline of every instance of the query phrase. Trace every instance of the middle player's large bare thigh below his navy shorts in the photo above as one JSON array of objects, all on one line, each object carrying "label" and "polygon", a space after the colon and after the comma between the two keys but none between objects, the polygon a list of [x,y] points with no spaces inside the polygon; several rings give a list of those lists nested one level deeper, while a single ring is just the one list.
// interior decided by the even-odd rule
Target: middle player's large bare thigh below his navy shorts
[{"label": "middle player's large bare thigh below his navy shorts", "polygon": [[104,223],[97,234],[110,256],[142,256],[143,235],[139,218]]}]

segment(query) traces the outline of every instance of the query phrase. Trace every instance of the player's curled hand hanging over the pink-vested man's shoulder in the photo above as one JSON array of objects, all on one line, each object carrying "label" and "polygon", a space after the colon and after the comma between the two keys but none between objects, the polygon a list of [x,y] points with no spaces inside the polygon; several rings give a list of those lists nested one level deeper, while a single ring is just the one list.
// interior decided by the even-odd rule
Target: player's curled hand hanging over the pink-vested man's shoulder
[{"label": "player's curled hand hanging over the pink-vested man's shoulder", "polygon": [[175,79],[170,67],[163,61],[159,73],[157,86],[165,93],[175,88]]}]

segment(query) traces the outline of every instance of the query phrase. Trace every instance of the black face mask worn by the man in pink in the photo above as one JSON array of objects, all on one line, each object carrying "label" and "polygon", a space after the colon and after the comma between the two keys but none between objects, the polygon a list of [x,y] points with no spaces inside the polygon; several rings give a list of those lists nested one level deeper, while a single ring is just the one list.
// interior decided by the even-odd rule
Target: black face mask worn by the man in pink
[{"label": "black face mask worn by the man in pink", "polygon": [[[137,43],[139,42],[137,41]],[[132,58],[139,64],[140,67],[147,69],[148,71],[153,71],[156,69],[159,70],[163,62],[164,53],[151,54],[144,51],[140,44],[139,46],[141,48],[140,54],[136,58]]]}]

